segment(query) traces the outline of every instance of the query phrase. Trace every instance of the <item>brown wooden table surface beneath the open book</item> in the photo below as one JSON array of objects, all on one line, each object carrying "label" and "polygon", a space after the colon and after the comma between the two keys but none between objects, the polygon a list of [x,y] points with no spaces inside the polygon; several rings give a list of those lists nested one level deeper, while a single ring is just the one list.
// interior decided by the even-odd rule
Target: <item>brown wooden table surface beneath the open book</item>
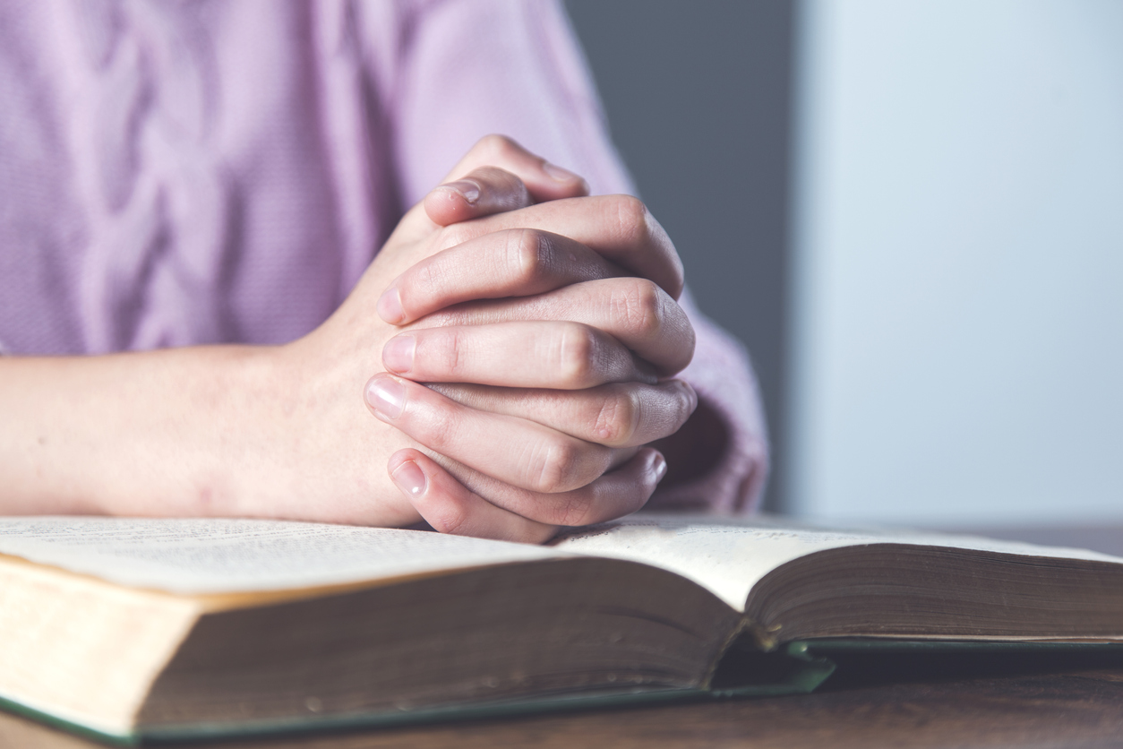
[{"label": "brown wooden table surface beneath the open book", "polygon": [[[1049,541],[1048,533],[1006,530],[1007,538]],[[1104,551],[1123,550],[1123,528],[1080,536]],[[0,714],[0,749],[91,749],[91,742]],[[221,749],[418,749],[493,747],[1123,747],[1123,652],[919,655],[841,663],[811,695],[742,698],[517,720],[293,737],[267,741],[175,745]]]}]

